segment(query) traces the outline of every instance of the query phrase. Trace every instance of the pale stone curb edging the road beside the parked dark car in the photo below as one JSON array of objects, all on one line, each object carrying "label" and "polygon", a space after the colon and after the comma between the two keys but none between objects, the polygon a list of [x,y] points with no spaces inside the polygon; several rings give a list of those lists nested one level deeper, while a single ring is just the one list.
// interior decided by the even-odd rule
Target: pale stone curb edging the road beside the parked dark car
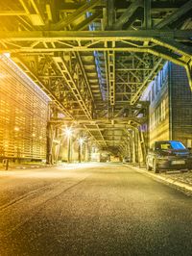
[{"label": "pale stone curb edging the road beside the parked dark car", "polygon": [[184,190],[184,191],[187,191],[187,192],[192,192],[192,186],[187,185],[187,184],[185,184],[183,182],[175,181],[173,179],[160,176],[159,174],[155,174],[155,173],[152,173],[150,171],[140,169],[139,167],[136,167],[136,166],[131,166],[131,167],[134,170],[136,170],[137,172],[140,172],[140,173],[142,173],[144,175],[152,177],[156,181],[161,181],[161,182],[167,183],[169,185],[175,186],[175,187],[179,188],[182,191]]}]

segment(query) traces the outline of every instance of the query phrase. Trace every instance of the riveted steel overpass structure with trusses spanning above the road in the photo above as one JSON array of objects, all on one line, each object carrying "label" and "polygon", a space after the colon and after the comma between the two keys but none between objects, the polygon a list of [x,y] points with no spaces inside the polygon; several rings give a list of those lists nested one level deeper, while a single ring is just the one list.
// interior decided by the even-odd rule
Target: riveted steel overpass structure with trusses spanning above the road
[{"label": "riveted steel overpass structure with trusses spanning above the road", "polygon": [[142,92],[165,61],[185,67],[192,89],[191,13],[191,0],[1,1],[0,52],[52,100],[49,153],[73,127],[101,149],[144,160]]}]

